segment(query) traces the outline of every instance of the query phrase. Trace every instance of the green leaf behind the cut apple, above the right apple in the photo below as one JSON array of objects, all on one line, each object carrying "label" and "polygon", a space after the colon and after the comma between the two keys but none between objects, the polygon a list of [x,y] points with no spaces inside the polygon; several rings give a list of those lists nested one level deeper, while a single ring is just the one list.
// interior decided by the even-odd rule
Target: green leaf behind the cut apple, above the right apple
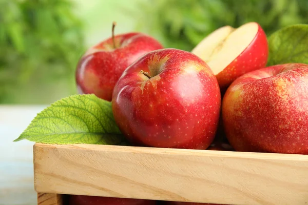
[{"label": "green leaf behind the cut apple, above the right apple", "polygon": [[280,29],[268,38],[267,66],[285,63],[308,64],[308,25],[297,24]]}]

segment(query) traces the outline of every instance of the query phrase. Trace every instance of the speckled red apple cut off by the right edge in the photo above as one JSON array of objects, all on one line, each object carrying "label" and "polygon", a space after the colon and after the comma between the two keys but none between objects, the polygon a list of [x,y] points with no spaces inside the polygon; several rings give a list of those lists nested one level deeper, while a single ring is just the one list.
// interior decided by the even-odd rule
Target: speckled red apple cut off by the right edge
[{"label": "speckled red apple cut off by the right edge", "polygon": [[242,75],[225,93],[222,117],[236,151],[308,154],[308,65]]}]

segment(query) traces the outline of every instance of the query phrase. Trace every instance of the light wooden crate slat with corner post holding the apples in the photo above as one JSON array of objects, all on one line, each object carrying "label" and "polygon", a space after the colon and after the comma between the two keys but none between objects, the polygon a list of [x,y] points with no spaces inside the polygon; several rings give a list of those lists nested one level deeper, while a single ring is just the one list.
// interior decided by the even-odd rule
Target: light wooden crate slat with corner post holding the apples
[{"label": "light wooden crate slat with corner post holding the apples", "polygon": [[61,194],[223,204],[308,204],[308,155],[34,145],[40,205]]}]

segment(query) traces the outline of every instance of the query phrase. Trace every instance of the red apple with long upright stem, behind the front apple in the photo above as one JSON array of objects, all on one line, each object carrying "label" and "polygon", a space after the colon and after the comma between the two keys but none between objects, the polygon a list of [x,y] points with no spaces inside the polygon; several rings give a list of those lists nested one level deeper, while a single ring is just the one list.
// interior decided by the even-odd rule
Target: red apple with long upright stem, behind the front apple
[{"label": "red apple with long upright stem, behind the front apple", "polygon": [[91,47],[81,57],[75,73],[79,93],[93,93],[110,101],[123,71],[145,53],[163,48],[156,39],[143,33],[113,36],[113,28],[112,37]]}]

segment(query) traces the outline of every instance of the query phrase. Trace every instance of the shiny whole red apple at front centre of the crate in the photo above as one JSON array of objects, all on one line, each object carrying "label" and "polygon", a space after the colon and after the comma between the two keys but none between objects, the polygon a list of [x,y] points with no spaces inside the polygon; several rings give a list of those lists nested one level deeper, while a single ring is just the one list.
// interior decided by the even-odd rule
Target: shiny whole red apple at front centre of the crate
[{"label": "shiny whole red apple at front centre of the crate", "polygon": [[122,133],[139,146],[206,149],[215,137],[221,95],[198,56],[152,51],[130,65],[115,85],[112,110]]}]

